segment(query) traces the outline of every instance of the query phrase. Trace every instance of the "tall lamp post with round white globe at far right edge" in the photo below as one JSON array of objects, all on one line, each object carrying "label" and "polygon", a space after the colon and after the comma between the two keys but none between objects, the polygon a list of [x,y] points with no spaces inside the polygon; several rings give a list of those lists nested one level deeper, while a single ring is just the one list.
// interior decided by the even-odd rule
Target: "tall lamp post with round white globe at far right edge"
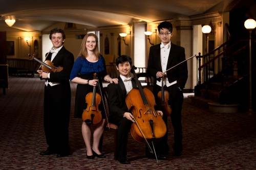
[{"label": "tall lamp post with round white globe at far right edge", "polygon": [[244,27],[249,30],[249,74],[250,74],[250,107],[249,112],[252,112],[252,105],[251,105],[251,99],[252,99],[252,90],[251,90],[251,31],[254,30],[256,27],[256,21],[254,19],[247,19],[244,22]]}]

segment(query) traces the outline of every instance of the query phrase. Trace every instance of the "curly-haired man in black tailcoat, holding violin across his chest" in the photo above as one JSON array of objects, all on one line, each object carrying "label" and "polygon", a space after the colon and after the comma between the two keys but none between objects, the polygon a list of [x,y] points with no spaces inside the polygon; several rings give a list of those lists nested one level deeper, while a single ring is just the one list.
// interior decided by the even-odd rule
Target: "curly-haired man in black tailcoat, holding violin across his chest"
[{"label": "curly-haired man in black tailcoat, holding violin across his chest", "polygon": [[[46,60],[60,70],[37,70],[40,79],[45,82],[44,95],[44,129],[48,148],[40,155],[56,154],[57,157],[70,155],[69,119],[71,108],[70,72],[74,64],[74,56],[66,50],[63,43],[66,35],[63,30],[55,28],[50,32],[53,50],[47,54]],[[53,65],[54,63],[54,65]],[[56,67],[56,68],[57,68]]]}]

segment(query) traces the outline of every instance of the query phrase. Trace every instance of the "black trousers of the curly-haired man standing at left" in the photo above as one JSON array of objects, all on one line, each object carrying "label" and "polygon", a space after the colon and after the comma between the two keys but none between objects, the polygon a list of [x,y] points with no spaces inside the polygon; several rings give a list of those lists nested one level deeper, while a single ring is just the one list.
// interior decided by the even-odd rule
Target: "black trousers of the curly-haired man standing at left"
[{"label": "black trousers of the curly-haired man standing at left", "polygon": [[45,86],[44,129],[49,150],[56,153],[70,152],[69,120],[71,90],[69,84]]}]

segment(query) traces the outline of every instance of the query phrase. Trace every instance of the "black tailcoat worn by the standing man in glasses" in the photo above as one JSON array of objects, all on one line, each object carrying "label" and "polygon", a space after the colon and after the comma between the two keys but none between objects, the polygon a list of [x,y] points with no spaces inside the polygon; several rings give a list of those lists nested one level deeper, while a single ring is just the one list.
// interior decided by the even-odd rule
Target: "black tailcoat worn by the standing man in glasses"
[{"label": "black tailcoat worn by the standing man in glasses", "polygon": [[[166,70],[179,64],[184,60],[186,60],[184,47],[175,45],[171,42]],[[162,72],[160,44],[150,47],[150,54],[148,57],[147,72],[155,78],[154,85],[156,85],[156,74],[158,71]],[[183,89],[185,87],[188,75],[187,62],[183,62],[182,64],[174,67],[173,69],[170,69],[166,72],[166,75],[170,83],[177,80],[178,87]]]}]

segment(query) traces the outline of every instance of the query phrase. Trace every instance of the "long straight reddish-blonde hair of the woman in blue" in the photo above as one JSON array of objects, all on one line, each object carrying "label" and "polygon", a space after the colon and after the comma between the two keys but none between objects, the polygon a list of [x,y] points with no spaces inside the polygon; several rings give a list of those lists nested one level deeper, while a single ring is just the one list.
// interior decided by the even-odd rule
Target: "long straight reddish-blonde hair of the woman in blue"
[{"label": "long straight reddish-blonde hair of the woman in blue", "polygon": [[84,38],[82,40],[82,44],[81,44],[81,50],[80,50],[78,56],[81,56],[82,58],[86,58],[88,56],[86,41],[87,41],[87,38],[90,36],[93,36],[96,40],[96,47],[94,48],[94,54],[96,57],[99,58],[100,53],[99,53],[98,37],[97,37],[97,35],[95,35],[93,33],[89,33],[86,36],[84,36]]}]

